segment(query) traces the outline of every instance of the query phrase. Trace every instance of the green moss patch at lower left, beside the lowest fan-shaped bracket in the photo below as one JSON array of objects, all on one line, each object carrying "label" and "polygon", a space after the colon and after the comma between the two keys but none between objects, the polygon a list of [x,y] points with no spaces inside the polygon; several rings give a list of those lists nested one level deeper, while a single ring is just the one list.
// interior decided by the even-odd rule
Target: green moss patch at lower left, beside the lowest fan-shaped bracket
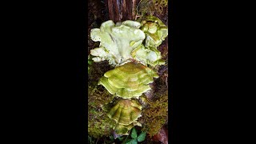
[{"label": "green moss patch at lower left, beside the lowest fan-shaped bracket", "polygon": [[113,95],[99,86],[89,86],[88,89],[88,134],[94,138],[109,136],[115,126],[114,120],[107,117],[103,106],[111,102]]}]

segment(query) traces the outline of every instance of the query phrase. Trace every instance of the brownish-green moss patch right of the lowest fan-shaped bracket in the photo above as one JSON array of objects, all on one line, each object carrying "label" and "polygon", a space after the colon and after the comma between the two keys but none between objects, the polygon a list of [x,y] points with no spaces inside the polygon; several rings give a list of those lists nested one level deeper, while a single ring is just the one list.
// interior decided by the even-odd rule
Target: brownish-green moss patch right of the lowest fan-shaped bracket
[{"label": "brownish-green moss patch right of the lowest fan-shaped bracket", "polygon": [[142,131],[146,131],[150,137],[159,132],[168,117],[168,91],[158,94],[159,98],[148,102],[150,107],[143,110],[143,117],[138,119],[142,123]]}]

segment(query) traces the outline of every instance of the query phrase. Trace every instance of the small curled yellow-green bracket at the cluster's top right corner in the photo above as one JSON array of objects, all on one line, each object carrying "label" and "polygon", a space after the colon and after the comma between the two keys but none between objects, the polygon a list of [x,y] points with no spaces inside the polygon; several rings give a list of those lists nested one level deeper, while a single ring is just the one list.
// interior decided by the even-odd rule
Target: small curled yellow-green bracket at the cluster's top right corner
[{"label": "small curled yellow-green bracket at the cluster's top right corner", "polygon": [[145,46],[158,47],[168,35],[167,26],[154,16],[147,16],[142,20],[141,30],[146,34]]}]

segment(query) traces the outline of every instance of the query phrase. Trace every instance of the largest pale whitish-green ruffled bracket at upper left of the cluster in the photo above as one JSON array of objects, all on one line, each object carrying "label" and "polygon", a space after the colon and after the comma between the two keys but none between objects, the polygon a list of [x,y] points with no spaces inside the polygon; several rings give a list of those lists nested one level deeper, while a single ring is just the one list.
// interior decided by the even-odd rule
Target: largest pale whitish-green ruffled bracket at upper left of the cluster
[{"label": "largest pale whitish-green ruffled bracket at upper left of the cluster", "polygon": [[94,42],[101,42],[98,48],[90,50],[90,54],[96,56],[92,58],[94,62],[108,60],[110,65],[118,66],[128,61],[131,51],[146,38],[140,26],[139,22],[130,20],[116,25],[109,20],[103,22],[100,29],[92,29],[90,38]]}]

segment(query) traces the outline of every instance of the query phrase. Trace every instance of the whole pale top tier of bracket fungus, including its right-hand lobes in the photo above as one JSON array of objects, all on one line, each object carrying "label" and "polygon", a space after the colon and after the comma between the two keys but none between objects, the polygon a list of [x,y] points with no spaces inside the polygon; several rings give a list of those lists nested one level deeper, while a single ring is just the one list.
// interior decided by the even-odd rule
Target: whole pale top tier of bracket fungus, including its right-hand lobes
[{"label": "whole pale top tier of bracket fungus, including its right-hand lobes", "polygon": [[[154,23],[154,22],[153,22]],[[143,65],[156,66],[162,65],[161,53],[155,46],[148,46],[151,43],[150,38],[156,41],[158,46],[162,40],[166,38],[166,31],[162,25],[161,29],[157,31],[157,38],[154,36],[148,36],[152,32],[152,29],[157,29],[155,26],[151,26],[150,29],[146,29],[148,23],[140,29],[141,23],[136,21],[127,20],[125,22],[114,22],[109,20],[102,23],[102,26],[94,28],[90,31],[90,37],[94,42],[100,42],[98,48],[90,50],[90,54],[94,56],[92,58],[94,62],[101,62],[108,60],[111,66],[120,66],[126,62],[131,62],[130,59],[135,59],[142,62]],[[157,24],[155,24],[158,26]],[[153,30],[154,31],[154,30]],[[160,40],[158,36],[160,35]],[[146,38],[146,47],[143,46],[143,42]],[[151,39],[152,39],[151,38]]]}]

